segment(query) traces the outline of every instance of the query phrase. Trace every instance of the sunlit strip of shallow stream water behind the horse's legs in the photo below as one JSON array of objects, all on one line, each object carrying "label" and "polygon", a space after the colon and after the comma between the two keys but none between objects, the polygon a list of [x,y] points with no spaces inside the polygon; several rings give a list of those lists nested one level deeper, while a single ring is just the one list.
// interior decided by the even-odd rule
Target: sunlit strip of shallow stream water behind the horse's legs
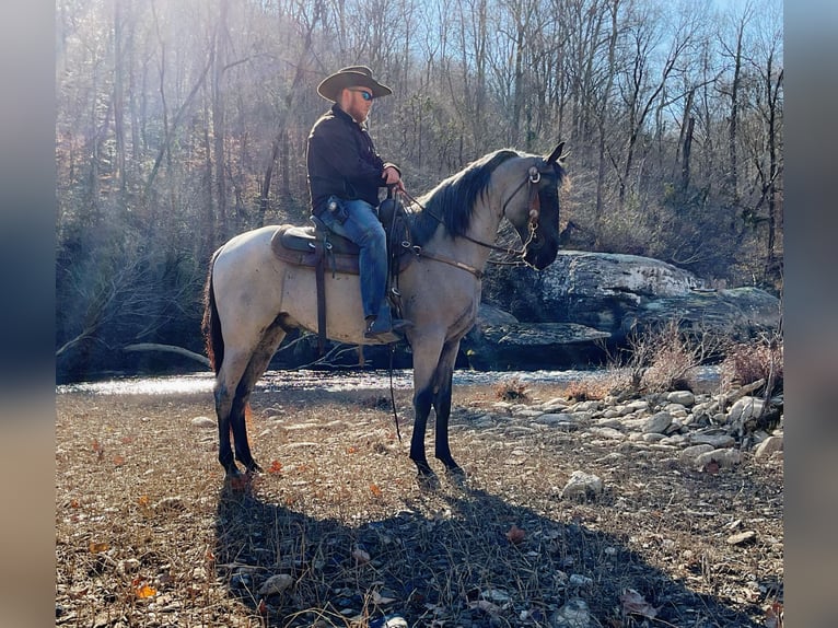
[{"label": "sunlit strip of shallow stream water behind the horse's legs", "polygon": [[[393,387],[412,388],[411,369],[393,371]],[[605,371],[454,371],[455,386],[492,386],[511,380],[525,384],[567,384],[602,377]],[[389,373],[385,370],[360,371],[268,371],[256,389],[278,391],[357,391],[388,389]],[[212,393],[212,373],[164,375],[156,377],[119,377],[102,382],[82,382],[56,387],[56,393],[89,393],[93,395],[170,395]]]}]

